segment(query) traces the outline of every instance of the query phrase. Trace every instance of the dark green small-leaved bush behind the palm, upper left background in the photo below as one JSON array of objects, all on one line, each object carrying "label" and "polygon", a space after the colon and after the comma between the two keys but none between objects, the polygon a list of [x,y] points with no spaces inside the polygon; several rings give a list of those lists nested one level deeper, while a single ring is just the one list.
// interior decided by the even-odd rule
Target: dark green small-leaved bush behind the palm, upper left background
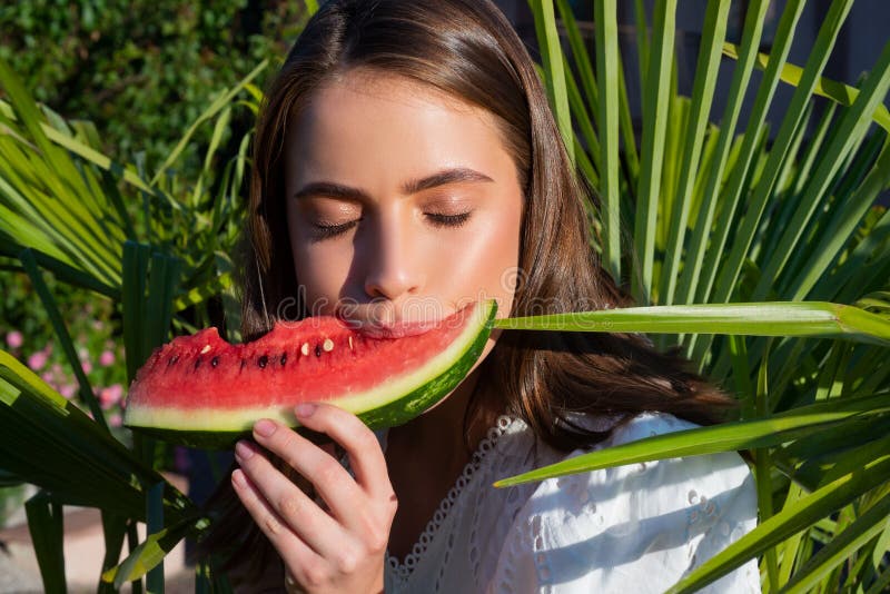
[{"label": "dark green small-leaved bush behind the palm, upper left background", "polygon": [[[299,2],[283,1],[9,2],[0,8],[0,58],[38,101],[97,122],[97,148],[123,161],[145,152],[154,168],[217,89],[283,56],[304,20]],[[246,113],[236,129],[249,127]],[[201,132],[178,164],[188,179],[209,142]]]}]

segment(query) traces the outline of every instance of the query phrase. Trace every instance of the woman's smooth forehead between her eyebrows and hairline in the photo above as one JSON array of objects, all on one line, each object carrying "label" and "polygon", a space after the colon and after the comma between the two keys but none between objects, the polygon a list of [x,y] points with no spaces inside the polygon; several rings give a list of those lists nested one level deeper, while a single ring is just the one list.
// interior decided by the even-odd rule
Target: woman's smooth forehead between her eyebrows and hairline
[{"label": "woman's smooth forehead between her eyebrows and hairline", "polygon": [[287,152],[300,177],[419,175],[443,166],[497,168],[508,159],[488,111],[374,71],[350,71],[316,89],[291,118]]}]

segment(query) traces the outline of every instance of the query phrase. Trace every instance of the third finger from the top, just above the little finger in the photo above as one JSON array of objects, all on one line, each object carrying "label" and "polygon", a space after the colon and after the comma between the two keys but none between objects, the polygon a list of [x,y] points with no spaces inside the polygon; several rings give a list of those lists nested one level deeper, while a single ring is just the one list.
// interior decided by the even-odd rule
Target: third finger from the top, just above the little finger
[{"label": "third finger from the top, just above the little finger", "polygon": [[329,557],[337,553],[346,537],[344,528],[275,468],[257,446],[238,442],[235,459],[248,479],[246,484],[265,502],[265,509],[269,513],[263,515],[263,522],[268,523],[269,531],[277,527],[278,522],[318,555]]}]

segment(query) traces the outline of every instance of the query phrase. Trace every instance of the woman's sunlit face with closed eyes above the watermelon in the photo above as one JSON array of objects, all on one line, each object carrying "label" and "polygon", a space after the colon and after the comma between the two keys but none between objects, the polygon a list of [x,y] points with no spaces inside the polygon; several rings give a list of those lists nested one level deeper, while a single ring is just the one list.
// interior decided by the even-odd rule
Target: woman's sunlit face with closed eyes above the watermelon
[{"label": "woman's sunlit face with closed eyes above the watermelon", "polygon": [[315,92],[285,151],[290,244],[310,315],[393,333],[478,299],[497,299],[498,316],[508,315],[523,194],[486,111],[353,71]]}]

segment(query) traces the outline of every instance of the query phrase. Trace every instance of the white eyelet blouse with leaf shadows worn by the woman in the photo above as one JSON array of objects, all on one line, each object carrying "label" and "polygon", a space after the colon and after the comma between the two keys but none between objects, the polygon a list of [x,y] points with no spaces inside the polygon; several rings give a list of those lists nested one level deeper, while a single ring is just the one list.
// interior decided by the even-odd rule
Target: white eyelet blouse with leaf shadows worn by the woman
[{"label": "white eyelet blouse with leaf shadows worn by the woman", "polygon": [[[593,449],[695,426],[644,413]],[[582,453],[498,418],[413,552],[387,557],[386,592],[663,592],[756,524],[753,476],[734,452],[492,487]],[[704,592],[760,592],[756,560]]]}]

